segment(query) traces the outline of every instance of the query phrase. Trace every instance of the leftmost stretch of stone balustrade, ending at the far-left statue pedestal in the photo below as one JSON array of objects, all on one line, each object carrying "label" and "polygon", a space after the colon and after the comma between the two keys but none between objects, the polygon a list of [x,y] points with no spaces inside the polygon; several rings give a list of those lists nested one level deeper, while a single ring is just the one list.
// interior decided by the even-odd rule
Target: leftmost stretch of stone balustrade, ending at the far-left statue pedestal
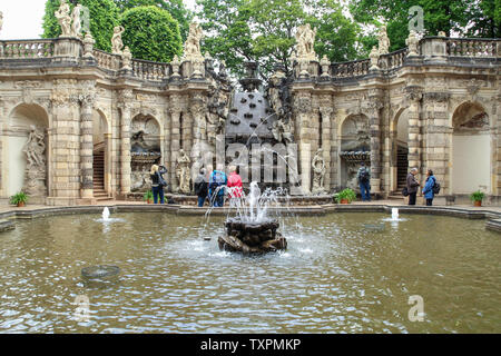
[{"label": "leftmost stretch of stone balustrade, ending at the far-left statue pedestal", "polygon": [[51,58],[53,43],[52,39],[0,41],[0,58]]}]

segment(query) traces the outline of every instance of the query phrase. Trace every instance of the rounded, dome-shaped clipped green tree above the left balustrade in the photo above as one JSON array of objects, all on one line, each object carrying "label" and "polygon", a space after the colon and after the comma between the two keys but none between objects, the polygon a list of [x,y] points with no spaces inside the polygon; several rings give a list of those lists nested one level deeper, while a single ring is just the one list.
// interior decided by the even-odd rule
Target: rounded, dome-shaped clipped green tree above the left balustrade
[{"label": "rounded, dome-shaped clipped green tree above the left balustrade", "polygon": [[156,6],[132,8],[122,13],[120,22],[124,44],[134,58],[169,62],[181,55],[179,24],[167,10]]}]

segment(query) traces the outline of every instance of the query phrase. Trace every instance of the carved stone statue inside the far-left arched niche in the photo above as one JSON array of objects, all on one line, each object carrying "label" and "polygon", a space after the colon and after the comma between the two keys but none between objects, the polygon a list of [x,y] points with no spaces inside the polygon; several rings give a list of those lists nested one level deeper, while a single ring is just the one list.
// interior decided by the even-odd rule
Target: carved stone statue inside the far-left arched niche
[{"label": "carved stone statue inside the far-left arched niche", "polygon": [[31,126],[23,152],[27,158],[23,191],[29,196],[46,196],[46,142],[43,129]]}]

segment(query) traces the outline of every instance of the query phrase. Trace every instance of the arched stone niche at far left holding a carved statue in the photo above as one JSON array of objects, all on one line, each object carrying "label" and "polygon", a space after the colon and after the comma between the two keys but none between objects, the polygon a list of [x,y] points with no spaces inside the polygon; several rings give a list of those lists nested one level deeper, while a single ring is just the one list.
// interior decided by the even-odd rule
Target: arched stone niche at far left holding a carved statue
[{"label": "arched stone niche at far left holding a carved statue", "polygon": [[45,204],[49,191],[49,117],[36,103],[20,103],[1,130],[2,196],[24,191],[31,202]]}]

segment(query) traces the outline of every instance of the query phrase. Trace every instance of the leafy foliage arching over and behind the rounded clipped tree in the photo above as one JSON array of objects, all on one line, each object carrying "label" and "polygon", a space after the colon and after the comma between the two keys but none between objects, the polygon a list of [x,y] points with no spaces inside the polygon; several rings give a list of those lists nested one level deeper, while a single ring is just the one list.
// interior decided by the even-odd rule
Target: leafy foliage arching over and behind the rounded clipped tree
[{"label": "leafy foliage arching over and behind the rounded clipped tree", "polygon": [[183,0],[114,0],[121,12],[137,7],[156,6],[169,11],[169,13],[179,22],[179,30],[183,41],[186,40],[189,32],[189,22],[193,20],[193,13],[186,9]]}]

